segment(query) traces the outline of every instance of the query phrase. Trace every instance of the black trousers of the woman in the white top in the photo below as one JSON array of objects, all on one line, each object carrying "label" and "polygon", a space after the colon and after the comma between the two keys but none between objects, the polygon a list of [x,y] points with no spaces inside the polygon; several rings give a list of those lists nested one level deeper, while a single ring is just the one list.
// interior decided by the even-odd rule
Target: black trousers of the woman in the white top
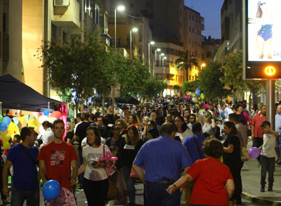
[{"label": "black trousers of the woman in the white top", "polygon": [[105,200],[107,198],[109,181],[103,179],[100,181],[92,181],[84,178],[84,193],[88,201],[89,206],[105,206]]}]

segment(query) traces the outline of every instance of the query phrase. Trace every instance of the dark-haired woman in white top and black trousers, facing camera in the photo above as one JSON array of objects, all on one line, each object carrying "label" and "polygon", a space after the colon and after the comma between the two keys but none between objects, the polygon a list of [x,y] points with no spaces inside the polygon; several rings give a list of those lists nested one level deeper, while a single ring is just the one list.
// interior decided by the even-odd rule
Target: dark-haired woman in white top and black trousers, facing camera
[{"label": "dark-haired woman in white top and black trousers, facing camera", "polygon": [[101,144],[98,128],[89,126],[86,131],[88,146],[82,151],[83,165],[78,170],[78,175],[84,172],[83,186],[88,205],[104,206],[107,198],[109,181],[105,170],[105,163],[99,163],[105,157],[105,151],[110,151],[108,146]]}]

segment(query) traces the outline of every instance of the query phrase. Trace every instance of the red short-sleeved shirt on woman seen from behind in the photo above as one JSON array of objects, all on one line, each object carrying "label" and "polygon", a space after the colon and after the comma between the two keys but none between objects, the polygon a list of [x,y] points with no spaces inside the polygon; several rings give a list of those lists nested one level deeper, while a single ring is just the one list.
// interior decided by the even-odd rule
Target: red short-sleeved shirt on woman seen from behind
[{"label": "red short-sleeved shirt on woman seen from behind", "polygon": [[228,205],[226,181],[233,179],[229,168],[216,158],[197,160],[186,172],[195,184],[192,188],[190,204]]}]

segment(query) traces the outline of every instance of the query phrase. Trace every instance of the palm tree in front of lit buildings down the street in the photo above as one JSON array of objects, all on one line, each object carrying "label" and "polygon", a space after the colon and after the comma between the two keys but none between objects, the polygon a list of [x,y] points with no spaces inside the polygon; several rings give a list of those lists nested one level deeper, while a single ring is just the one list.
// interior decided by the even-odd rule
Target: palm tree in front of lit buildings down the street
[{"label": "palm tree in front of lit buildings down the street", "polygon": [[188,50],[182,52],[180,57],[174,61],[176,69],[185,69],[186,70],[186,80],[188,81],[188,69],[192,66],[198,67],[198,60],[194,56],[188,55]]}]

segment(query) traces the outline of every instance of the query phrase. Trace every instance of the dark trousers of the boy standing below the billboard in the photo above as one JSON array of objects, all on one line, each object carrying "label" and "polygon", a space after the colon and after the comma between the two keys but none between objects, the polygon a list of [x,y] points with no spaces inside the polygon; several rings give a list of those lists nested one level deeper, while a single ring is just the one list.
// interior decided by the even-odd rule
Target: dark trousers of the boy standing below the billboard
[{"label": "dark trousers of the boy standing below the billboard", "polygon": [[268,172],[268,187],[273,187],[273,171],[275,165],[275,158],[268,158],[261,156],[261,187],[266,185],[266,172]]}]

